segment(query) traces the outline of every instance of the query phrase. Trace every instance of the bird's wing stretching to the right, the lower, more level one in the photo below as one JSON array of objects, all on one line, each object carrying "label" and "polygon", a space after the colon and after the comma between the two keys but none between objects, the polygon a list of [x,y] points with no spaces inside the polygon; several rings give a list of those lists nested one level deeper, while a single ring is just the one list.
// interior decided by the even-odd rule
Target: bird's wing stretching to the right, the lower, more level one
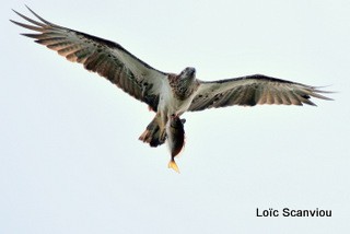
[{"label": "bird's wing stretching to the right, the lower, more level one", "polygon": [[188,110],[217,108],[232,105],[255,106],[257,104],[315,105],[311,97],[331,100],[315,86],[254,74],[235,79],[200,82],[198,92]]}]

